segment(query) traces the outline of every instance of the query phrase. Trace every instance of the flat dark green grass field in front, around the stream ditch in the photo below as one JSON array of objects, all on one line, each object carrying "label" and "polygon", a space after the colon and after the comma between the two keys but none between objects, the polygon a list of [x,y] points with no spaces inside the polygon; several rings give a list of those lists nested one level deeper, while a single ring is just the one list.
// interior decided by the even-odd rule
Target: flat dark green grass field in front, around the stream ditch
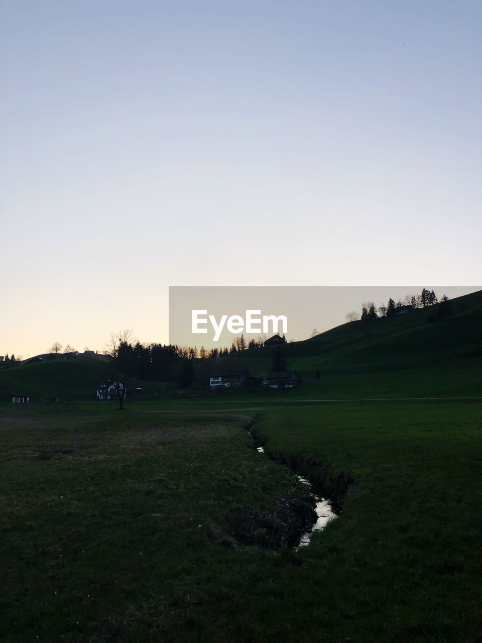
[{"label": "flat dark green grass field in front, around the stream ditch", "polygon": [[[480,401],[192,402],[0,405],[2,640],[481,640]],[[253,414],[355,480],[297,552],[238,538],[302,493]]]}]

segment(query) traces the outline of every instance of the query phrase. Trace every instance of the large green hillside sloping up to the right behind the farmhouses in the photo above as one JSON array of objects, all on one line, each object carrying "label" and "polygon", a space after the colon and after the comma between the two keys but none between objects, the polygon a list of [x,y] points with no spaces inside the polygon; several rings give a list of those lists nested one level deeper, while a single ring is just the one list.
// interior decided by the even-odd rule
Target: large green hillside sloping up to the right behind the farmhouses
[{"label": "large green hillside sloping up to the right behind the farmhouses", "polygon": [[[437,314],[440,304],[393,318],[345,323],[281,350],[288,367],[305,380],[299,390],[303,395],[482,394],[482,291],[450,305],[451,314],[433,323],[427,317]],[[217,367],[243,364],[266,374],[276,350],[245,350],[219,359]]]}]

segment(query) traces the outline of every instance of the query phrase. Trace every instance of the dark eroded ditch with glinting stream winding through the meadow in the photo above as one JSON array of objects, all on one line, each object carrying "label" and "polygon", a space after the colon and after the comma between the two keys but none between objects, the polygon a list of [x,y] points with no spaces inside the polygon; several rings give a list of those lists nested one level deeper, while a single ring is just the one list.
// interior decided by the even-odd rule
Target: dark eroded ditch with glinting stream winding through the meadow
[{"label": "dark eroded ditch with glinting stream winding through the meadow", "polygon": [[265,547],[288,545],[295,550],[305,547],[315,532],[341,513],[344,498],[354,483],[353,476],[333,474],[317,458],[265,453],[267,438],[253,429],[255,422],[253,417],[244,429],[253,438],[256,451],[287,467],[298,484],[291,498],[280,499],[272,509],[245,518],[245,529],[237,530],[237,535],[246,543]]}]

